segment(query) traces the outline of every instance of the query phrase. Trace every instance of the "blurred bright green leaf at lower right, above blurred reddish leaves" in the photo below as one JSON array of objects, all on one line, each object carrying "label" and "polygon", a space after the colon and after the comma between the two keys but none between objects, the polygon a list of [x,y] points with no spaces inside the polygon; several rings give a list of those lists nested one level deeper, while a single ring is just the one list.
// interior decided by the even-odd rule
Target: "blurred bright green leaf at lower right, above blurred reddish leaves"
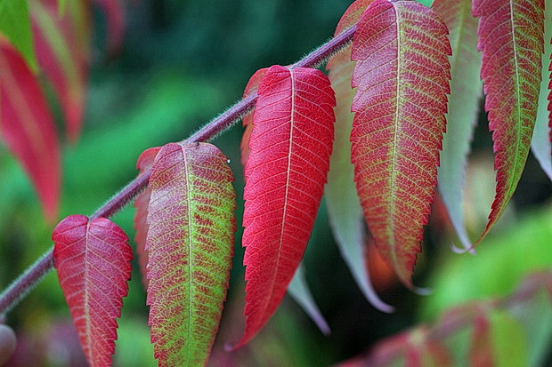
[{"label": "blurred bright green leaf at lower right, above blurred reddish leaves", "polygon": [[515,227],[490,238],[477,256],[448,254],[429,280],[433,293],[422,299],[424,319],[470,299],[504,296],[522,276],[552,264],[552,207],[532,212]]}]

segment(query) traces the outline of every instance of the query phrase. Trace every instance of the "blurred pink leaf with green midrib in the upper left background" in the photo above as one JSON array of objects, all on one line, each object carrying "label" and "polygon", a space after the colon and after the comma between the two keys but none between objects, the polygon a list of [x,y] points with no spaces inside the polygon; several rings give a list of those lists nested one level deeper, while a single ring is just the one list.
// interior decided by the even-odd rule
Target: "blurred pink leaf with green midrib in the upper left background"
[{"label": "blurred pink leaf with green midrib in the upper left background", "polygon": [[90,62],[90,9],[82,1],[69,2],[65,12],[59,11],[55,0],[31,4],[38,63],[60,100],[69,140],[75,141],[85,106]]}]

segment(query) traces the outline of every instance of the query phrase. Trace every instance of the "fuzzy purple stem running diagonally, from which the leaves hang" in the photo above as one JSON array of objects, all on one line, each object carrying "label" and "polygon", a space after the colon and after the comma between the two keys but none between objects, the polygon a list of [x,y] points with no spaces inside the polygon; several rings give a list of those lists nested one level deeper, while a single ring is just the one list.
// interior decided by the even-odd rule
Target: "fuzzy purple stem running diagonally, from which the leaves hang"
[{"label": "fuzzy purple stem running diagonally, from which the leaves hang", "polygon": [[[328,60],[335,53],[343,50],[345,46],[353,41],[356,25],[345,30],[345,32],[330,39],[326,44],[322,44],[313,52],[307,54],[303,59],[297,61],[289,68],[315,68],[325,60]],[[255,107],[256,93],[239,100],[231,108],[228,108],[221,115],[215,117],[211,122],[204,125],[198,132],[193,133],[188,139],[183,141],[208,141],[215,138],[221,132],[230,128],[243,115]],[[123,187],[107,203],[95,211],[90,219],[100,217],[109,218],[121,209],[127,203],[130,203],[136,195],[148,185],[150,180],[150,170],[143,172],[136,179],[131,181],[126,187]],[[42,278],[53,269],[53,248],[46,251],[37,262],[20,275],[2,294],[0,294],[0,315],[7,313],[21,299],[23,299]]]}]

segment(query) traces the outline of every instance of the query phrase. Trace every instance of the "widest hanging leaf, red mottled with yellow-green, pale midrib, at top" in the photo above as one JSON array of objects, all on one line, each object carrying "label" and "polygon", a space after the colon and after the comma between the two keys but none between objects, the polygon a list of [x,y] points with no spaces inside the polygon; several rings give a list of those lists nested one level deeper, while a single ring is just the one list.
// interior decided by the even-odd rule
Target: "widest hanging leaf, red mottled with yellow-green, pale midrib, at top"
[{"label": "widest hanging leaf, red mottled with yellow-green, pale midrib, at top", "polygon": [[378,251],[408,286],[434,198],[450,54],[442,20],[410,1],[371,4],[353,40],[357,192]]}]

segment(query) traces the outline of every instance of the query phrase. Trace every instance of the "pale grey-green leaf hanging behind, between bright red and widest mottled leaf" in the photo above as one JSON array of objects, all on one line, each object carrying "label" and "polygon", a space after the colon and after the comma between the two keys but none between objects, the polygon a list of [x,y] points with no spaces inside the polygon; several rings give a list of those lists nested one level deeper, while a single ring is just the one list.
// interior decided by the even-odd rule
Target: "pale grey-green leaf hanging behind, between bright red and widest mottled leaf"
[{"label": "pale grey-green leaf hanging behind, between bright red and widest mottled leaf", "polygon": [[[337,25],[336,35],[353,26],[361,18],[362,12],[373,2],[374,0],[358,0],[351,4]],[[366,227],[361,202],[354,185],[349,140],[353,124],[351,103],[354,96],[351,89],[354,68],[351,61],[351,46],[332,57],[327,68],[337,100],[336,135],[329,164],[328,185],[325,188],[329,224],[341,256],[366,299],[380,311],[392,312],[393,307],[386,305],[373,290],[364,260]]]}]

